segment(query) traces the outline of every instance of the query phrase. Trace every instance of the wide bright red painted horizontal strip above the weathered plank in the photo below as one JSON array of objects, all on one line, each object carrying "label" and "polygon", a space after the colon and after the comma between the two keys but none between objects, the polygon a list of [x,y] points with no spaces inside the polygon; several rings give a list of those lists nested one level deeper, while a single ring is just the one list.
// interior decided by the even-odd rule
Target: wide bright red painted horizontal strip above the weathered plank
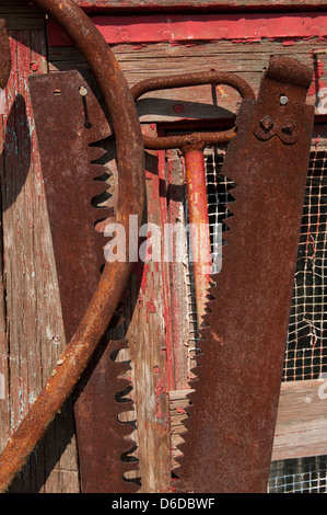
[{"label": "wide bright red painted horizontal strip above the weathered plank", "polygon": [[[323,12],[293,14],[150,14],[94,15],[93,22],[109,44],[231,39],[258,42],[261,38],[327,38],[327,15]],[[48,22],[49,44],[67,46],[62,30]]]}]

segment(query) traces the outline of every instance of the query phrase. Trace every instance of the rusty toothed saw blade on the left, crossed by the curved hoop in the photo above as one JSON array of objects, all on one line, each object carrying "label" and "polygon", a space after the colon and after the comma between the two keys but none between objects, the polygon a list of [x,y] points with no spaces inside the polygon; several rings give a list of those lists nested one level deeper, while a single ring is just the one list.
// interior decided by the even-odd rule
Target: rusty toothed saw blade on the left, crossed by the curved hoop
[{"label": "rusty toothed saw blade on the left, crossed by the curved hoop", "polygon": [[[110,208],[96,209],[92,205],[108,184],[103,181],[106,168],[97,163],[105,150],[91,144],[112,131],[91,73],[31,77],[30,90],[69,341],[86,311],[105,262],[104,245],[108,240],[95,230],[95,222],[113,216],[115,206],[113,203]],[[124,398],[130,381],[121,378],[129,366],[115,362],[118,351],[125,347],[125,341],[112,342],[109,347],[104,342],[79,386],[74,417],[85,493],[137,490],[136,483],[122,478],[136,469],[131,460],[121,460],[135,446],[129,438],[132,426],[118,421],[120,413],[132,410],[132,402]]]}]

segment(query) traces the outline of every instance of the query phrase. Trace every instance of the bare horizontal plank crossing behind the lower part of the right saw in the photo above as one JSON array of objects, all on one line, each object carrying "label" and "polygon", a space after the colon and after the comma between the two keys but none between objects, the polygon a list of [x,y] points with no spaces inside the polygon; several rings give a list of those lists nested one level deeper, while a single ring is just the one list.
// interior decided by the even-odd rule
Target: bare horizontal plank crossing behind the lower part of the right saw
[{"label": "bare horizontal plank crossing behind the lower part of the right saw", "polygon": [[[178,455],[187,416],[187,392],[170,392],[173,458]],[[327,379],[282,382],[272,460],[322,456],[327,453]]]}]

